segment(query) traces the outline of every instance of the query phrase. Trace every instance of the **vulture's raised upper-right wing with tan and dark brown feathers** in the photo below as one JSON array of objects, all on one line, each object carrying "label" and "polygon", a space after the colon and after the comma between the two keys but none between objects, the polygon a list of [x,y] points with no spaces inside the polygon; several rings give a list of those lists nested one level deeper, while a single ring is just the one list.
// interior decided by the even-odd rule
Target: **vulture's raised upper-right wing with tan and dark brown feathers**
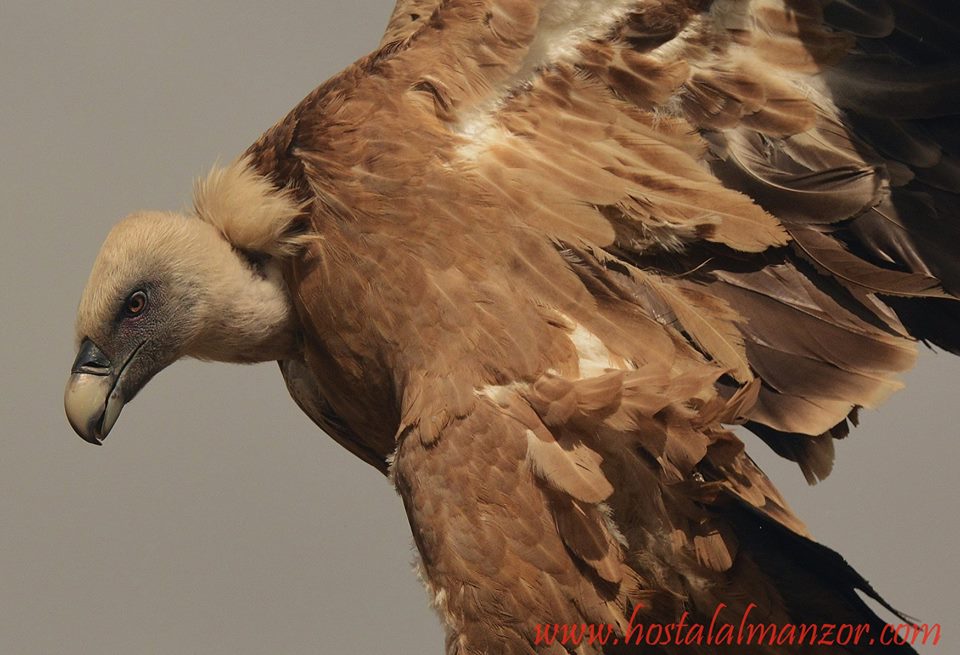
[{"label": "vulture's raised upper-right wing with tan and dark brown feathers", "polygon": [[910,335],[960,348],[951,16],[451,3],[407,34],[406,90],[432,103],[451,165],[572,269],[634,287],[733,380],[759,378],[748,425],[813,480],[845,419],[899,386]]}]

